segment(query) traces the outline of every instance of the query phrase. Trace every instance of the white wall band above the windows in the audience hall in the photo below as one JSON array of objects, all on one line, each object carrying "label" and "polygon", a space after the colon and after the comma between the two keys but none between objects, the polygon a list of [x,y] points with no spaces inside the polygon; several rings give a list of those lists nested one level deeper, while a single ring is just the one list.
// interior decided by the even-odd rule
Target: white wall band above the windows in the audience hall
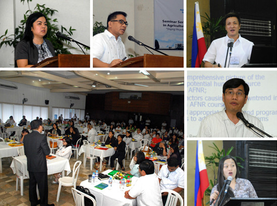
[{"label": "white wall band above the windows in the audience hall", "polygon": [[[16,85],[17,90],[0,88],[0,102],[11,104],[22,104],[23,94],[28,98],[25,105],[48,106],[48,115],[52,116],[52,107],[69,108],[70,102],[74,103],[74,109],[85,109],[86,96],[72,93],[51,93],[49,89],[23,85],[6,80],[0,80],[1,84]],[[80,97],[80,100],[66,99],[65,96]],[[44,100],[49,100],[49,104],[45,105]]]}]

